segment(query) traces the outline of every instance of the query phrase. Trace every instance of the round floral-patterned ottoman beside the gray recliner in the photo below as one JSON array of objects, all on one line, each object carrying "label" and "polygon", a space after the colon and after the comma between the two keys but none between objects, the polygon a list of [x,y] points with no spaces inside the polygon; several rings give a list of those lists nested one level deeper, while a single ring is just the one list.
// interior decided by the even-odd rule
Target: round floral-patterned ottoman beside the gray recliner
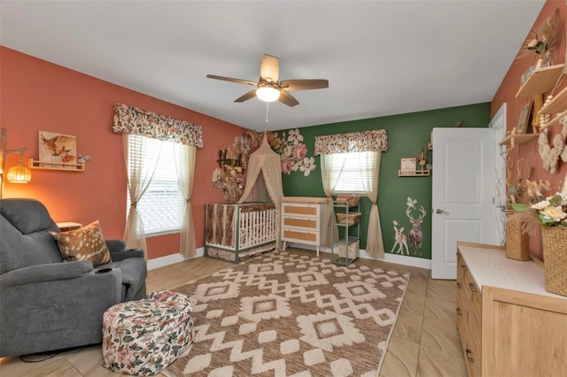
[{"label": "round floral-patterned ottoman beside the gray recliner", "polygon": [[193,342],[191,311],[196,304],[194,298],[171,291],[115,304],[103,315],[101,364],[123,374],[159,373]]}]

